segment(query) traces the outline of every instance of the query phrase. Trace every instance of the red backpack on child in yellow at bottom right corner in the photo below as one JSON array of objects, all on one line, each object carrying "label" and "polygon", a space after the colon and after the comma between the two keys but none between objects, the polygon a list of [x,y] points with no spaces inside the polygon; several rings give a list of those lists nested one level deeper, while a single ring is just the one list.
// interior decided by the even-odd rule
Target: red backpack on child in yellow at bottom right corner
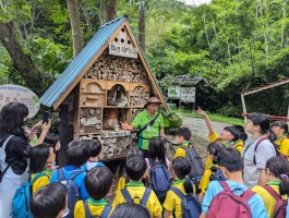
[{"label": "red backpack on child in yellow at bottom right corner", "polygon": [[263,187],[276,199],[276,205],[274,208],[274,217],[286,218],[286,207],[287,207],[288,201],[282,199],[280,195],[272,186],[264,185]]}]

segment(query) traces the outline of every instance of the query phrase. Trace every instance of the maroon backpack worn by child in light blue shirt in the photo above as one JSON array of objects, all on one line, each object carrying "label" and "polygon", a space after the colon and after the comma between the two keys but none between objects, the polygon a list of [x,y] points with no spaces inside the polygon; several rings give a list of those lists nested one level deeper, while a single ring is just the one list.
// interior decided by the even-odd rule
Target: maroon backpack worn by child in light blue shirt
[{"label": "maroon backpack worn by child in light blue shirt", "polygon": [[255,193],[244,191],[242,195],[234,194],[227,182],[219,181],[224,191],[219,192],[212,201],[207,218],[252,218],[248,199]]}]

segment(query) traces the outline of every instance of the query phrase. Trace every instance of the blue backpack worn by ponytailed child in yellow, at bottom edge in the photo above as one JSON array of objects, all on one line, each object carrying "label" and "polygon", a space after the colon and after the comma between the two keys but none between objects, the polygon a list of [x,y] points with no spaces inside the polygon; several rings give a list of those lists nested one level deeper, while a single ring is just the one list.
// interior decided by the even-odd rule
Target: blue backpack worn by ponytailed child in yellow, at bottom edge
[{"label": "blue backpack worn by ponytailed child in yellow, at bottom edge", "polygon": [[182,199],[182,217],[183,218],[198,218],[202,213],[202,205],[192,193],[184,195],[179,189],[171,187],[171,191],[174,192]]}]

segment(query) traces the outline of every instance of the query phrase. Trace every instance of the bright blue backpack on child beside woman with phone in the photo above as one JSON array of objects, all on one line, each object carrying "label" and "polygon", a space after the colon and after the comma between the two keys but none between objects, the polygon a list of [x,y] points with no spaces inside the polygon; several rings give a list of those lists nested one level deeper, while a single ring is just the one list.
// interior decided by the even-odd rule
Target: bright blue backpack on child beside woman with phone
[{"label": "bright blue backpack on child beside woman with phone", "polygon": [[12,218],[33,217],[31,211],[32,185],[37,179],[44,175],[48,177],[45,172],[39,172],[31,180],[29,175],[28,180],[16,190],[12,201]]}]

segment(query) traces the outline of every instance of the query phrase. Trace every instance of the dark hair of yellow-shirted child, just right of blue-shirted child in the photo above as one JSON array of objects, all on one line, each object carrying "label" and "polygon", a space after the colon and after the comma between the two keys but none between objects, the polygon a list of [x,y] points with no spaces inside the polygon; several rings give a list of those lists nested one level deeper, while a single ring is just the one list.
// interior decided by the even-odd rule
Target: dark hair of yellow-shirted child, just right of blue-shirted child
[{"label": "dark hair of yellow-shirted child, just right of blue-shirted child", "polygon": [[113,175],[106,166],[95,167],[85,175],[85,189],[92,198],[101,199],[109,192],[112,179]]}]

